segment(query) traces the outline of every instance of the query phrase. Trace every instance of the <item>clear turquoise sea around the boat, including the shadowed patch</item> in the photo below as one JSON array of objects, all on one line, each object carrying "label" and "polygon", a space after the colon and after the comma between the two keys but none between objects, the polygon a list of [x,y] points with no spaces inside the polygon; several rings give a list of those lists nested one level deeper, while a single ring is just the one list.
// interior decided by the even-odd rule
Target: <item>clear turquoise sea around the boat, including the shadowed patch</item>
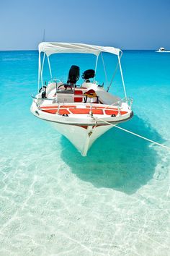
[{"label": "clear turquoise sea around the boat, including the shadowed patch", "polygon": [[[59,55],[54,77],[94,59]],[[135,116],[121,126],[170,147],[170,54],[125,51],[122,68]],[[169,255],[169,151],[111,129],[81,157],[30,114],[37,51],[0,52],[0,82],[0,255]]]}]

